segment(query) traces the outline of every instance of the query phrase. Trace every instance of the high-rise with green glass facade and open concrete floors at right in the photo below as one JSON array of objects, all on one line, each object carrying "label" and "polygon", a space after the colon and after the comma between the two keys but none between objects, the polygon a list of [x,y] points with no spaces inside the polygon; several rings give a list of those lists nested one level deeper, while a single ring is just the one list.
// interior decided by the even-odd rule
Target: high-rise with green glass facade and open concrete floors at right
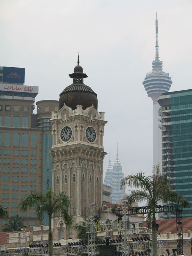
[{"label": "high-rise with green glass facade and open concrete floors at right", "polygon": [[[188,200],[190,209],[183,209],[183,217],[191,217],[192,89],[163,93],[158,103],[161,106],[163,175],[170,180],[172,189]],[[164,215],[164,218],[169,217]]]}]

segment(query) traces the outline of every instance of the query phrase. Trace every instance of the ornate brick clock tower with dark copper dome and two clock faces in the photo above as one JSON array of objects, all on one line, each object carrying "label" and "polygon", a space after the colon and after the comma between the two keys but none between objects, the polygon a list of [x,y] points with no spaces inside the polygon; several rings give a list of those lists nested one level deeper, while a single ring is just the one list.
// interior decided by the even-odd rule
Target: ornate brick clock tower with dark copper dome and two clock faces
[{"label": "ornate brick clock tower with dark copper dome and two clock faces", "polygon": [[[79,57],[73,84],[60,93],[59,112],[52,111],[52,190],[64,191],[71,200],[74,224],[88,219],[89,204],[96,204],[96,215],[102,205],[104,112],[98,112],[97,94],[84,84]],[[57,214],[53,217],[53,239],[76,239],[71,228],[65,228]]]}]

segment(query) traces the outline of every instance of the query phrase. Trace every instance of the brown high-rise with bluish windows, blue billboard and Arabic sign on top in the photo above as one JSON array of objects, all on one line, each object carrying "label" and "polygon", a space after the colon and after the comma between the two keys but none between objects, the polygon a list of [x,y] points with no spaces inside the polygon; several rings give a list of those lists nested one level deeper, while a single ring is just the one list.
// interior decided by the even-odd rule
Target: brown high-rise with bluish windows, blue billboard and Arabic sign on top
[{"label": "brown high-rise with bluish windows, blue billboard and Arabic sign on top", "polygon": [[[42,221],[36,218],[35,208],[20,212],[18,204],[30,192],[41,193],[51,185],[48,120],[58,101],[37,102],[37,114],[33,114],[38,86],[23,85],[24,70],[0,67],[0,202],[10,217],[19,214],[29,227]],[[1,220],[0,230],[6,221]]]}]

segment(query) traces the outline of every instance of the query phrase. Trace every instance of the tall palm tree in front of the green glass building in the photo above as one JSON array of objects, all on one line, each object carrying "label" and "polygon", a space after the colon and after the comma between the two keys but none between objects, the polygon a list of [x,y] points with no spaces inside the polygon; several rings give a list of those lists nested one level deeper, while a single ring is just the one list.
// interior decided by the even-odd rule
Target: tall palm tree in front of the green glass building
[{"label": "tall palm tree in front of the green glass building", "polygon": [[[129,205],[136,202],[147,201],[148,209],[147,222],[152,220],[152,248],[153,256],[157,256],[157,233],[156,233],[156,216],[155,210],[158,201],[171,202],[181,204],[183,207],[189,208],[189,203],[181,195],[178,195],[170,188],[169,180],[164,178],[159,170],[159,165],[153,168],[151,176],[145,176],[144,172],[131,174],[121,181],[121,187],[131,186],[133,190],[127,196]],[[136,190],[139,188],[139,190]]]}]

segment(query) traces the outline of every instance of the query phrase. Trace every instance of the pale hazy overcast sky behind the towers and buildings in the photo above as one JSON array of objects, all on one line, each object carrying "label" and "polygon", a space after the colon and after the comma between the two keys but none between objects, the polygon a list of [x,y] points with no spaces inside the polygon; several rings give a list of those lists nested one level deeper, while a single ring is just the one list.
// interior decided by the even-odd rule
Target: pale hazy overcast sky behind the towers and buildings
[{"label": "pale hazy overcast sky behind the towers and buildings", "polygon": [[118,141],[124,175],[150,175],[153,104],[142,81],[155,59],[156,12],[170,91],[191,89],[192,1],[0,0],[0,9],[0,65],[22,65],[25,84],[39,86],[36,101],[59,100],[80,52],[84,83],[106,113],[104,148],[112,164]]}]

